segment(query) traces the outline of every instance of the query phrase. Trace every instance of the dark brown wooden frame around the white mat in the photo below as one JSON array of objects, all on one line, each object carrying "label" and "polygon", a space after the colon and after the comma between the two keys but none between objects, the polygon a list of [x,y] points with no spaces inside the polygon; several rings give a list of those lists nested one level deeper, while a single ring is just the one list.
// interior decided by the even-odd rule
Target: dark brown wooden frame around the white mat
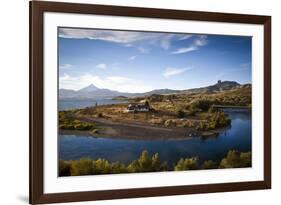
[{"label": "dark brown wooden frame around the white mat", "polygon": [[[75,202],[271,188],[271,17],[32,1],[30,3],[30,203]],[[264,27],[264,180],[237,183],[87,191],[43,192],[43,13],[67,12],[260,24]]]}]

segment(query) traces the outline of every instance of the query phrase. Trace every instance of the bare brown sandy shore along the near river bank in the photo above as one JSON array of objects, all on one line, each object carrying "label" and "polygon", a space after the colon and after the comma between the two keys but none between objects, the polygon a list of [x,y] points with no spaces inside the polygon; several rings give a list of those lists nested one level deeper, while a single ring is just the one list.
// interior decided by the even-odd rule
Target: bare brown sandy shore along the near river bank
[{"label": "bare brown sandy shore along the near river bank", "polygon": [[118,139],[136,140],[175,140],[193,137],[216,137],[218,131],[198,131],[188,128],[166,128],[145,123],[116,122],[105,118],[83,118],[86,122],[94,122],[102,128],[98,133],[78,130],[59,130],[61,135],[87,135]]}]

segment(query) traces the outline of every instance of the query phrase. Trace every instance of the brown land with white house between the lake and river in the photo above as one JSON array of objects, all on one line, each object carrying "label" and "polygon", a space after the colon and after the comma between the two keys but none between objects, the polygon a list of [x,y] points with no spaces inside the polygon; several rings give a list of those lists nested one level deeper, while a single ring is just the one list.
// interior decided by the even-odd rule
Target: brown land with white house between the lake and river
[{"label": "brown land with white house between the lake and river", "polygon": [[126,103],[60,111],[59,133],[140,140],[217,136],[231,126],[224,109],[251,106],[251,86],[117,98]]}]

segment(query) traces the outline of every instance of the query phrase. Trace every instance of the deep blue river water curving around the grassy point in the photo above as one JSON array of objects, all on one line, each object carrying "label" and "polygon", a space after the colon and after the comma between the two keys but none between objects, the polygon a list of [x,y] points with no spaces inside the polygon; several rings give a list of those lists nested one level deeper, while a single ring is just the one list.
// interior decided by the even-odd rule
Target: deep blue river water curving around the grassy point
[{"label": "deep blue river water curving around the grassy point", "polygon": [[139,157],[143,150],[158,152],[170,165],[180,158],[198,156],[200,161],[220,161],[230,149],[251,151],[251,112],[249,110],[226,110],[232,119],[231,128],[217,138],[193,138],[189,140],[127,140],[93,138],[87,136],[61,135],[59,158],[64,160],[90,157],[129,163]]}]

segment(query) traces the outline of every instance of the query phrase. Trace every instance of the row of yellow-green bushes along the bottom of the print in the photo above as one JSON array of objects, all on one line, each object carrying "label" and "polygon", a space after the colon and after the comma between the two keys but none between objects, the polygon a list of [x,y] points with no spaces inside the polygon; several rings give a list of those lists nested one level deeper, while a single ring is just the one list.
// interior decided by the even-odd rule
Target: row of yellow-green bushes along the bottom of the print
[{"label": "row of yellow-green bushes along the bottom of the print", "polygon": [[[186,159],[181,158],[174,167],[174,170],[251,167],[251,160],[251,152],[230,150],[227,156],[221,160],[219,166],[212,160],[204,161],[203,164],[199,166],[198,157],[191,157]],[[120,162],[109,162],[101,158],[97,160],[89,158],[71,161],[59,160],[59,176],[159,172],[167,170],[171,170],[171,168],[168,167],[167,162],[160,160],[158,153],[150,157],[146,150],[141,153],[137,160],[134,160],[128,166]]]}]

